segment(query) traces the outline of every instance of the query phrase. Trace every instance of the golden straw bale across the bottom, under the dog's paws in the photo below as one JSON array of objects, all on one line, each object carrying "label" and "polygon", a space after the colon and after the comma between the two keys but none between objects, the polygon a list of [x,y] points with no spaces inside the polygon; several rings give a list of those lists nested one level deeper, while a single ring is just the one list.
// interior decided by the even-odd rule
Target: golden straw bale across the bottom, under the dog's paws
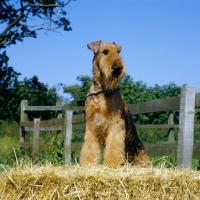
[{"label": "golden straw bale across the bottom, under the dog's paws", "polygon": [[0,173],[0,199],[200,199],[200,172],[27,164]]}]

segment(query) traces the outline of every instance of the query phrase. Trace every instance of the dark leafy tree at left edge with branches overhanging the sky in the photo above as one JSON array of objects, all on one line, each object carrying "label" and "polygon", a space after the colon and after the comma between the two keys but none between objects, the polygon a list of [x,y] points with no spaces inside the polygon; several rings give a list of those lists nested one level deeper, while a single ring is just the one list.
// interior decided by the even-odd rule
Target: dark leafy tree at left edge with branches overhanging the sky
[{"label": "dark leafy tree at left edge with branches overhanging the sky", "polygon": [[[54,31],[63,27],[65,31],[70,31],[70,22],[64,11],[70,1],[1,0],[0,23],[4,29],[0,32],[0,50],[26,37],[36,38],[39,30]],[[22,87],[18,81],[21,74],[8,66],[8,60],[5,51],[0,53],[0,120],[19,121],[22,99],[29,100],[31,105],[55,105],[58,97],[55,88],[48,89],[36,76],[25,78]],[[40,116],[43,119],[47,117],[46,113]]]}]

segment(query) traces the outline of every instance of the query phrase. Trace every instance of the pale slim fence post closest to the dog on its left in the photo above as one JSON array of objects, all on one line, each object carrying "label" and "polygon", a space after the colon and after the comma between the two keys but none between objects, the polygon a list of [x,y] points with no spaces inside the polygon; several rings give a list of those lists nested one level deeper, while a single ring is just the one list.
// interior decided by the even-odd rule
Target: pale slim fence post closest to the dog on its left
[{"label": "pale slim fence post closest to the dog on its left", "polygon": [[65,111],[65,133],[64,133],[64,164],[71,161],[71,140],[72,140],[72,117],[73,110]]}]

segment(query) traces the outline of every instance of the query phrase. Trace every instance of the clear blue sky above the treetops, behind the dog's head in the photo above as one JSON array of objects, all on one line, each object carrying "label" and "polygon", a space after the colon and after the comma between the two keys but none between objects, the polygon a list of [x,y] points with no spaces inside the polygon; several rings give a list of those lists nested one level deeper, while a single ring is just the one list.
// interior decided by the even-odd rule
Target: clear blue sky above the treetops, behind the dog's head
[{"label": "clear blue sky above the treetops, behind the dog's head", "polygon": [[6,49],[19,80],[37,75],[49,87],[79,83],[77,76],[92,76],[87,44],[102,40],[122,46],[134,81],[200,92],[200,0],[76,0],[65,10],[72,31],[41,31]]}]

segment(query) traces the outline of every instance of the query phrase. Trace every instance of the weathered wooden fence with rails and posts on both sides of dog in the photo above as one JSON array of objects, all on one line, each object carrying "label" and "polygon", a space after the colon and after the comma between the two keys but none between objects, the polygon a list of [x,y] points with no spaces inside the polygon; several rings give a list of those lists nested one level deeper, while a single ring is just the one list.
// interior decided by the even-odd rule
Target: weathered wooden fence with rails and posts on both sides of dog
[{"label": "weathered wooden fence with rails and posts on both sides of dog", "polygon": [[[188,93],[189,91],[189,93]],[[192,91],[192,93],[191,93]],[[186,94],[187,93],[187,94]],[[136,124],[138,129],[153,129],[153,128],[165,128],[168,129],[168,142],[166,143],[157,143],[157,144],[148,144],[145,143],[145,147],[147,152],[150,156],[164,156],[164,155],[174,155],[177,157],[181,157],[180,159],[184,159],[183,154],[185,155],[186,152],[179,152],[179,156],[177,152],[180,150],[178,144],[175,144],[174,140],[174,129],[179,128],[179,140],[180,137],[183,136],[183,132],[180,133],[182,129],[180,123],[174,124],[173,119],[173,111],[179,111],[181,106],[181,101],[183,99],[183,94],[186,94],[184,98],[188,98],[187,95],[194,96],[194,102],[190,102],[193,105],[193,113],[192,117],[194,117],[194,112],[200,112],[200,93],[195,94],[195,88],[183,88],[181,96],[172,97],[167,99],[160,99],[160,100],[153,100],[148,102],[142,102],[137,104],[129,105],[129,110],[131,114],[145,114],[151,112],[160,112],[160,111],[171,111],[168,119],[168,124],[162,125],[139,125]],[[188,100],[188,99],[187,99]],[[188,103],[188,102],[186,102]],[[191,106],[190,106],[191,107]],[[70,162],[70,155],[71,151],[80,151],[82,144],[79,143],[71,143],[71,135],[72,131],[75,130],[85,130],[85,116],[84,114],[73,115],[72,110],[84,110],[84,106],[61,106],[57,104],[56,106],[28,106],[28,101],[23,100],[21,102],[21,122],[20,122],[20,146],[21,147],[30,147],[25,143],[25,136],[26,131],[33,131],[34,138],[36,137],[35,142],[33,144],[33,150],[36,152],[39,149],[44,149],[44,145],[41,146],[37,144],[39,143],[39,131],[50,131],[50,130],[63,130],[65,132],[65,139],[64,139],[64,162]],[[62,111],[65,110],[65,118],[62,118]],[[34,121],[28,121],[28,112],[31,111],[56,111],[57,112],[57,119],[52,120],[45,120],[40,121],[39,119],[36,120],[38,123],[34,123]],[[181,111],[180,111],[181,112]],[[181,114],[180,114],[181,115]],[[180,121],[179,121],[180,122]],[[187,119],[186,122],[187,123]],[[37,127],[35,127],[37,124]],[[67,125],[66,125],[67,124]],[[184,124],[182,124],[184,126]],[[195,125],[195,127],[200,128],[200,125]],[[185,130],[183,130],[185,131]],[[187,130],[188,131],[188,130]],[[194,133],[194,123],[193,127],[191,127],[190,132]],[[35,136],[36,135],[36,136]],[[193,137],[193,135],[192,135]],[[183,142],[184,143],[184,142]],[[179,144],[180,146],[181,144]],[[184,150],[186,147],[183,146],[182,149]],[[192,150],[191,150],[192,148]],[[179,149],[179,150],[178,150]],[[192,151],[193,157],[200,158],[200,145],[193,145],[190,147],[190,152]],[[180,156],[181,155],[181,156]],[[180,160],[179,159],[179,160]],[[191,166],[191,158],[184,163],[183,160],[179,162],[179,166],[181,167],[190,167]]]}]

